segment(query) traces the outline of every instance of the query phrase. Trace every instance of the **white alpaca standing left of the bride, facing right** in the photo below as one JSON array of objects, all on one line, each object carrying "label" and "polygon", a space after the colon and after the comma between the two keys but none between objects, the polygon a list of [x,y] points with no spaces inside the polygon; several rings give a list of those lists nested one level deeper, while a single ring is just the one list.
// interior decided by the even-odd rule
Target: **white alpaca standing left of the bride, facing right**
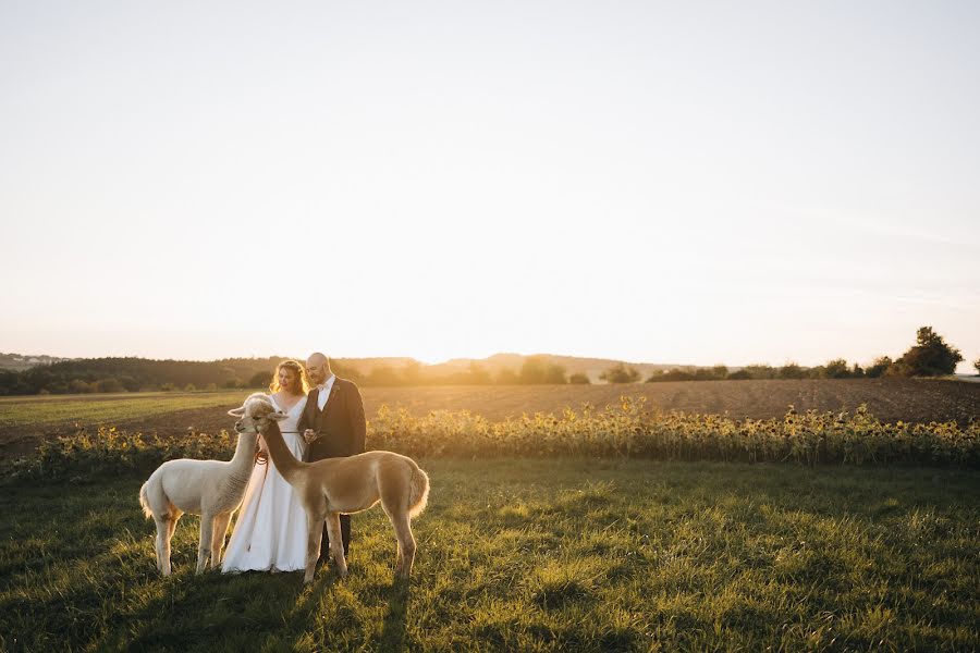
[{"label": "white alpaca standing left of the bride, facing right", "polygon": [[221,562],[228,522],[245,496],[255,464],[255,433],[240,433],[231,461],[168,460],[139,489],[139,503],[157,523],[157,569],[170,576],[170,540],[184,513],[200,515],[197,572]]}]

